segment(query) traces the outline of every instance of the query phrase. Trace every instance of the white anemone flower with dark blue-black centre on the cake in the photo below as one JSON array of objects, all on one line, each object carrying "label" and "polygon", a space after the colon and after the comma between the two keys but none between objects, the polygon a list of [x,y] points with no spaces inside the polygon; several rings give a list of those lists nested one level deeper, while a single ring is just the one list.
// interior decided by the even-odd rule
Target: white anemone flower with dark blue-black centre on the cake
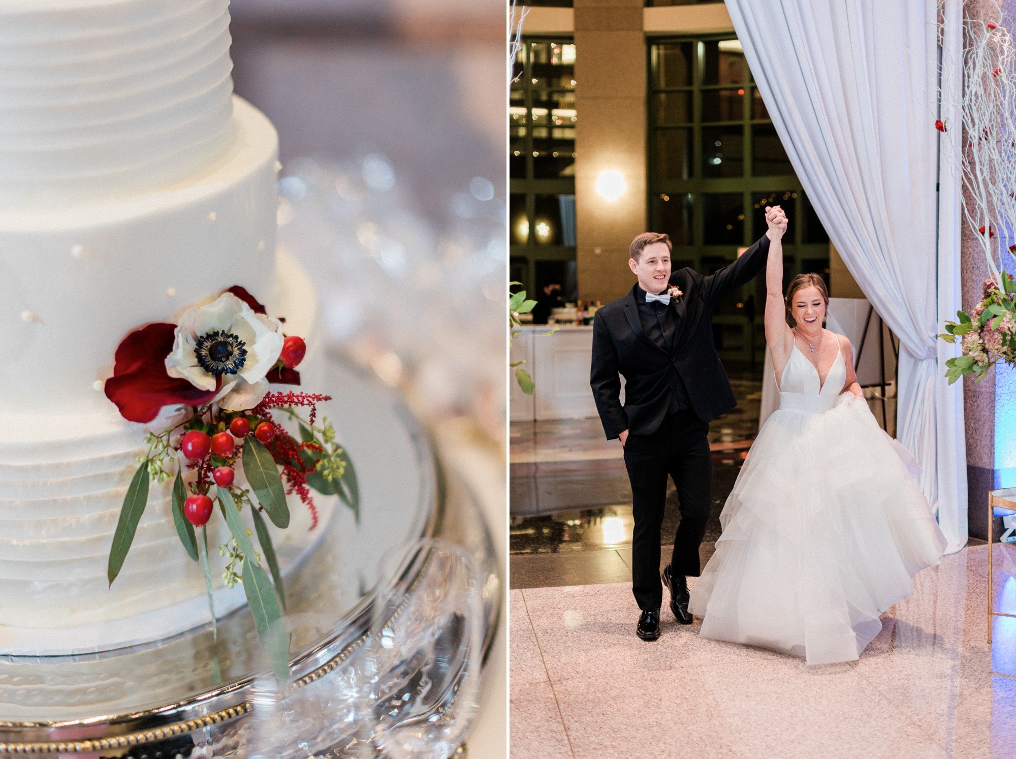
[{"label": "white anemone flower with dark blue-black centre on the cake", "polygon": [[231,412],[257,405],[268,392],[265,375],[282,351],[282,325],[256,314],[232,293],[187,309],[177,325],[166,372],[195,387],[214,390],[212,400]]}]

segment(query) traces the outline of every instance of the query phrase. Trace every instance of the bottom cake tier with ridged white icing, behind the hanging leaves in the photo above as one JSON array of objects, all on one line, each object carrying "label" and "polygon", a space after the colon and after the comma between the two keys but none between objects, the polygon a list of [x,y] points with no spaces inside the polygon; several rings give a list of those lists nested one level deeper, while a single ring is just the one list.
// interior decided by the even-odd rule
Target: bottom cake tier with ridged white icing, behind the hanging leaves
[{"label": "bottom cake tier with ridged white icing, behind the hanging leaves", "polygon": [[[313,389],[320,329],[306,274],[278,259],[278,296],[269,312],[305,335],[304,386]],[[255,292],[256,295],[256,292]],[[180,545],[170,506],[171,483],[151,484],[144,516],[112,587],[106,577],[113,533],[148,429],[109,413],[39,416],[0,414],[0,625],[71,627],[121,619],[205,592],[204,575]],[[110,410],[111,409],[111,410]],[[167,412],[169,415],[170,412]],[[163,421],[165,422],[165,417]],[[323,499],[320,499],[323,500]],[[276,546],[305,533],[310,515],[290,499],[293,520],[275,531]],[[212,575],[221,585],[214,547],[228,530],[209,523]],[[280,552],[282,554],[284,552]],[[217,567],[217,568],[216,568]]]}]

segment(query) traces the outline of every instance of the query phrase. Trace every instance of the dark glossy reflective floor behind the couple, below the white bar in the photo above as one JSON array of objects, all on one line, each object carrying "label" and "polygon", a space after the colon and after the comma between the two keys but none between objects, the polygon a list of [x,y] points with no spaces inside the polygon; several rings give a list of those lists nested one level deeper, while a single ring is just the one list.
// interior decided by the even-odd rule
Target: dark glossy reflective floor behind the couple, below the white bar
[{"label": "dark glossy reflective floor behind the couple, below the white bar", "polygon": [[[703,560],[712,555],[719,512],[758,432],[761,381],[732,384],[738,407],[709,426],[712,515]],[[630,579],[631,486],[621,444],[604,438],[599,420],[513,422],[510,456],[511,587]],[[670,483],[661,544],[673,545],[680,519]]]}]

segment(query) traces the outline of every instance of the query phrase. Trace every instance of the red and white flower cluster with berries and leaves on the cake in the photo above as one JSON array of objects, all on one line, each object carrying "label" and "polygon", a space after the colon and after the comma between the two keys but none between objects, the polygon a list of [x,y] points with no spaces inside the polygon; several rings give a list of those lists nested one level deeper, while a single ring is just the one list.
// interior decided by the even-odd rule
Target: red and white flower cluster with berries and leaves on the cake
[{"label": "red and white flower cluster with berries and leaves on the cake", "polygon": [[[243,288],[230,288],[188,308],[176,324],[148,324],[128,334],[117,347],[105,391],[128,421],[169,420],[161,432],[145,437],[146,450],[138,457],[113,536],[110,584],[130,551],[150,481],[172,479],[174,523],[184,550],[204,570],[213,634],[206,525],[217,504],[231,534],[218,547],[227,560],[223,579],[230,587],[243,584],[272,669],[284,679],[288,638],[275,623],[285,609],[285,594],[264,517],[287,527],[287,495],[296,495],[310,510],[313,529],[317,510],[311,489],[337,495],[358,519],[360,506],[353,464],[335,442],[331,423],[318,420],[317,404],[330,396],[269,391],[269,383],[300,384],[296,367],[307,351],[303,338],[283,333],[282,321],[268,316]],[[161,417],[164,409],[169,410]],[[296,423],[299,441],[276,416]],[[241,519],[245,507],[253,531]]]}]

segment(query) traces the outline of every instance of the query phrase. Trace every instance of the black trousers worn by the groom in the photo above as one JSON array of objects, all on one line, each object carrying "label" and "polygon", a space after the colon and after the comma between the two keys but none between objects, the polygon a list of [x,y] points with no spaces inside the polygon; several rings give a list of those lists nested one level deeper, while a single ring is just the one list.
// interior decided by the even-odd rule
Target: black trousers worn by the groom
[{"label": "black trousers worn by the groom", "polygon": [[671,568],[675,575],[697,577],[699,546],[712,503],[712,456],[709,425],[693,412],[668,415],[651,435],[629,435],[625,465],[632,485],[635,532],[632,535],[632,591],[639,609],[662,606],[659,579],[659,530],[663,523],[666,479],[678,489],[681,523],[674,535]]}]

